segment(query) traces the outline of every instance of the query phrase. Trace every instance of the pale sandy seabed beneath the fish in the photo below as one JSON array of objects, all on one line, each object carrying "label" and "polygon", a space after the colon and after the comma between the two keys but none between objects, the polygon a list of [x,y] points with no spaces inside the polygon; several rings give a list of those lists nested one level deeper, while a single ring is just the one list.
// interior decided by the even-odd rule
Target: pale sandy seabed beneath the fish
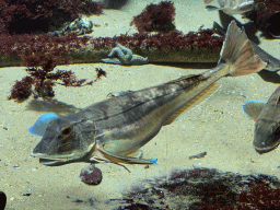
[{"label": "pale sandy seabed beneath the fish", "polygon": [[[135,33],[129,26],[133,15],[139,14],[150,2],[130,1],[120,11],[105,10],[101,16],[92,16],[100,24],[94,37]],[[174,1],[175,25],[187,33],[199,26],[211,27],[219,21],[218,12],[207,12],[203,1]],[[261,47],[271,55],[280,55],[279,40],[261,40]],[[137,91],[177,79],[185,74],[199,73],[208,69],[191,70],[188,66],[137,66],[121,67],[104,63],[59,66],[71,69],[80,79],[94,79],[95,68],[107,72],[92,86],[56,86],[56,98],[85,107],[107,97],[108,93]],[[279,149],[259,155],[252,141],[254,121],[243,113],[242,105],[250,100],[267,101],[278,86],[262,81],[258,74],[237,78],[223,78],[222,86],[205,103],[184,113],[172,125],[162,128],[160,133],[143,148],[144,158],[158,158],[159,165],[100,164],[103,180],[97,186],[83,184],[79,174],[86,163],[47,167],[30,154],[40,138],[28,133],[27,129],[43,114],[26,110],[28,102],[16,104],[7,101],[15,80],[26,75],[24,67],[1,68],[0,70],[0,189],[8,196],[7,209],[112,209],[108,199],[121,198],[121,191],[139,180],[170,174],[174,168],[213,167],[223,172],[241,174],[265,173],[280,177],[278,166]],[[207,152],[203,159],[189,160],[190,155]],[[84,200],[85,202],[74,202]]]}]

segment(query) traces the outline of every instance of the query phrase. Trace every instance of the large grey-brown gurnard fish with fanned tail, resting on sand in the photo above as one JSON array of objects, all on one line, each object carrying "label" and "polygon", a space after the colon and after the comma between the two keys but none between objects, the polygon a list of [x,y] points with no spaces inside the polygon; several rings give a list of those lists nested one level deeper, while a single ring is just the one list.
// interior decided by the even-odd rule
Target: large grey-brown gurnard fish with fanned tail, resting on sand
[{"label": "large grey-brown gurnard fish with fanned tail, resting on sand", "polygon": [[107,98],[51,120],[31,155],[48,166],[73,162],[154,164],[156,159],[136,154],[162,126],[209,97],[219,79],[254,73],[265,66],[245,33],[232,22],[215,68]]}]

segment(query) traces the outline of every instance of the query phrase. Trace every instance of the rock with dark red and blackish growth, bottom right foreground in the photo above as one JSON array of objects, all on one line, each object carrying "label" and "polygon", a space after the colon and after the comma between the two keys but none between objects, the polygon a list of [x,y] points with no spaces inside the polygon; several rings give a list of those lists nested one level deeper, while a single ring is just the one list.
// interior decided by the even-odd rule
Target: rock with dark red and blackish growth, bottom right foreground
[{"label": "rock with dark red and blackish growth, bottom right foreground", "polygon": [[265,210],[280,209],[279,197],[275,176],[195,167],[133,184],[110,202],[118,209]]}]

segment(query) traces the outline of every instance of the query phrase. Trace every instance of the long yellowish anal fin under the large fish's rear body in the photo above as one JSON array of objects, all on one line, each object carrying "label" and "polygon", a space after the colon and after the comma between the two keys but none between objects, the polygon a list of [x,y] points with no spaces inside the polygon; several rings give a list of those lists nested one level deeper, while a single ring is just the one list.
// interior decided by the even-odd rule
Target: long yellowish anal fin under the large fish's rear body
[{"label": "long yellowish anal fin under the large fish's rear body", "polygon": [[210,86],[208,86],[205,91],[199,93],[194,100],[188,102],[186,105],[180,107],[176,113],[171,115],[164,122],[163,126],[172,124],[182,113],[185,110],[190,110],[191,108],[195,108],[197,105],[199,105],[201,102],[209,98],[219,88],[221,84],[214,83]]}]

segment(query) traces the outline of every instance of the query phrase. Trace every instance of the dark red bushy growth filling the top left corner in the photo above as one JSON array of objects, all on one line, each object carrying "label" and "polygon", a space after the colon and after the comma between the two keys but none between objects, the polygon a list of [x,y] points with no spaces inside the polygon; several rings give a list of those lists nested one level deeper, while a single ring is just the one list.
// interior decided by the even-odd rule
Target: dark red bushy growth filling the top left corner
[{"label": "dark red bushy growth filling the top left corner", "polygon": [[89,0],[2,0],[1,33],[23,34],[48,32],[80,14],[101,14],[102,5]]}]

